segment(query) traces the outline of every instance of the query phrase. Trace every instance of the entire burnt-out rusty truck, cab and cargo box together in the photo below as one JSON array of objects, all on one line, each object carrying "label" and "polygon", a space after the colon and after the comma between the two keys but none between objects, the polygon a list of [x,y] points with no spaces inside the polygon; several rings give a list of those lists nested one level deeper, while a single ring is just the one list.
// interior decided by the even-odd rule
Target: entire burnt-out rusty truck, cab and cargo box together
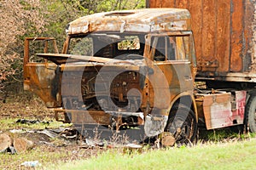
[{"label": "entire burnt-out rusty truck, cab and cargo box together", "polygon": [[73,20],[61,53],[53,37],[27,37],[24,89],[81,132],[140,128],[165,145],[198,126],[256,132],[255,3],[147,6]]}]

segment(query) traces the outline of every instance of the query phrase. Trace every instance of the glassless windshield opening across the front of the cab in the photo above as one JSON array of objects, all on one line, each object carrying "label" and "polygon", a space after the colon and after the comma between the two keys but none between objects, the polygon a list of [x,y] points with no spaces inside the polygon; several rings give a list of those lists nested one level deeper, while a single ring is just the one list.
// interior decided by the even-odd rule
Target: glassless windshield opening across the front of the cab
[{"label": "glassless windshield opening across the front of the cab", "polygon": [[87,55],[103,58],[137,59],[144,51],[144,37],[141,34],[94,33],[71,37],[67,54]]}]

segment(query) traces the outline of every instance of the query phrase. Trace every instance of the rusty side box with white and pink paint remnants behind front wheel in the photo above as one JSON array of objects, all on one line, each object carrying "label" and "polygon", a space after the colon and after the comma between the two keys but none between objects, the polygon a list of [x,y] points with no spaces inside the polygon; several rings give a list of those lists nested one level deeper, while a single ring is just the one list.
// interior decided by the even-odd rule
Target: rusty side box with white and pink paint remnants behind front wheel
[{"label": "rusty side box with white and pink paint remnants behind front wheel", "polygon": [[246,96],[246,91],[198,95],[198,107],[204,113],[200,116],[205,119],[207,129],[243,124]]}]

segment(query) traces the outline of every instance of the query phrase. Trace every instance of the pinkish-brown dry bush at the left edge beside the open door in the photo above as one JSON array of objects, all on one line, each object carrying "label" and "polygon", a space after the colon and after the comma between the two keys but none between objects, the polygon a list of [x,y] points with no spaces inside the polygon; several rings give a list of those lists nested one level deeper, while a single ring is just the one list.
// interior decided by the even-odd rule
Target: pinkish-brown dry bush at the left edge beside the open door
[{"label": "pinkish-brown dry bush at the left edge beside the open door", "polygon": [[[4,0],[0,2],[0,90],[4,82],[20,74],[20,53],[26,32],[44,31],[44,13],[39,0]],[[13,77],[15,78],[15,77]]]}]

